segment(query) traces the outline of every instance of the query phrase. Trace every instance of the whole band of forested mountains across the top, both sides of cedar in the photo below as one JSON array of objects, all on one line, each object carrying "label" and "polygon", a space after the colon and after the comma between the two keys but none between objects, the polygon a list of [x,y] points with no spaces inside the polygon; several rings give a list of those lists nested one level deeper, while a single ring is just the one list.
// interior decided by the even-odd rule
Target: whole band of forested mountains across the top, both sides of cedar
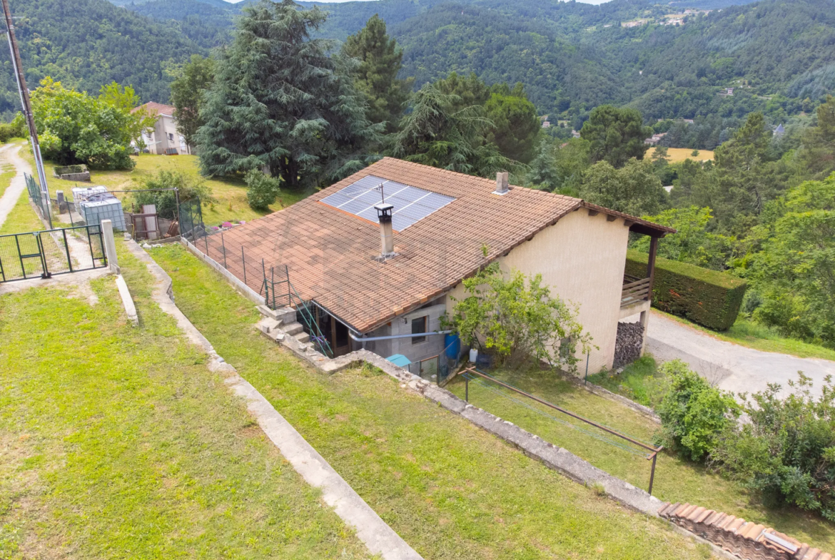
[{"label": "whole band of forested mountains across the top, both sides of cedar", "polygon": [[[414,76],[416,87],[453,70],[475,72],[488,83],[524,83],[543,114],[582,117],[600,103],[616,103],[639,108],[648,119],[752,110],[779,116],[797,113],[805,98],[813,103],[835,91],[835,0],[721,4],[727,2],[301,4],[329,12],[319,34],[339,40],[379,13],[404,50],[402,75]],[[685,7],[712,11],[685,14]],[[168,99],[165,69],[225,43],[240,8],[223,0],[14,5],[23,17],[18,28],[33,86],[46,74],[90,90],[115,79],[155,101]],[[8,68],[8,54],[0,53],[0,61]],[[16,98],[9,70],[0,77],[0,112]]]}]

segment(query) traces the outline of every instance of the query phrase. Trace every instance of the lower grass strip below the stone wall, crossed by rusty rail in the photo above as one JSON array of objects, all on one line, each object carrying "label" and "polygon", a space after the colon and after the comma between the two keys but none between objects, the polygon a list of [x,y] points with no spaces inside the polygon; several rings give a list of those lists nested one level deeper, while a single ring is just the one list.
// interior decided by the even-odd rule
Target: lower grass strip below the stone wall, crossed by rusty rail
[{"label": "lower grass strip below the stone wall, crossed by rusty rail", "polygon": [[[647,362],[650,362],[648,364]],[[642,361],[635,367],[645,370],[654,362]],[[490,375],[509,384],[539,396],[569,411],[610,426],[628,436],[643,441],[651,441],[658,426],[627,406],[620,405],[604,397],[574,386],[569,381],[551,371],[490,371]],[[625,371],[623,375],[629,375]],[[590,381],[599,381],[590,377]],[[516,396],[506,389],[498,389],[487,382],[490,388],[480,383],[469,382],[469,402],[493,414],[514,422],[527,431],[542,437],[546,441],[568,449],[586,461],[620,477],[637,487],[646,489],[650,479],[650,462],[643,455],[635,455],[610,445],[577,429],[582,426],[603,436],[605,432],[584,425],[569,416],[552,411],[545,406],[529,401],[523,396]],[[463,398],[464,381],[457,377],[447,386],[450,391]],[[498,390],[498,392],[497,392]],[[524,401],[534,410],[509,400],[506,396]],[[538,411],[548,411],[559,421],[543,416]],[[570,420],[570,422],[568,422]],[[610,439],[619,441],[610,436]],[[636,448],[636,447],[635,447]],[[824,550],[835,548],[835,524],[821,517],[802,512],[796,508],[783,507],[767,509],[736,482],[727,480],[704,467],[679,457],[663,453],[655,467],[655,485],[653,495],[667,502],[691,502],[709,509],[731,513],[746,520],[775,527],[804,542],[809,542]]]}]

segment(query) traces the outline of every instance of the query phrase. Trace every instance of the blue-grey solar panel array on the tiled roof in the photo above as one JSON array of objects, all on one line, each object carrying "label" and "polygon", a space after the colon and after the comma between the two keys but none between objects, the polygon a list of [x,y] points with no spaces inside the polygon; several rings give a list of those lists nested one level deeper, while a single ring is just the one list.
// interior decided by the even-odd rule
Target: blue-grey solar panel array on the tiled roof
[{"label": "blue-grey solar panel array on the tiled roof", "polygon": [[392,228],[397,231],[405,230],[417,220],[426,218],[454,200],[451,196],[368,175],[326,196],[321,202],[376,222],[377,210],[374,204],[380,204],[383,198],[387,203],[394,204]]}]

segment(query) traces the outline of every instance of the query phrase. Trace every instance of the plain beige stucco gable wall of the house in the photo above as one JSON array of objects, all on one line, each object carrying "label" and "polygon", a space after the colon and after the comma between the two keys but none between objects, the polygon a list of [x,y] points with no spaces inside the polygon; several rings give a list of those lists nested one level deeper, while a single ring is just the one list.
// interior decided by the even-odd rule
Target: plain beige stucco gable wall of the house
[{"label": "plain beige stucco gable wall of the house", "polygon": [[[610,222],[605,214],[590,216],[579,209],[499,260],[502,270],[541,274],[552,294],[579,305],[579,323],[600,347],[591,351],[589,373],[610,368],[615,358],[628,241],[623,219]],[[463,294],[462,285],[449,293],[448,313],[453,306],[449,296],[461,299]],[[578,366],[583,373],[585,363]]]}]

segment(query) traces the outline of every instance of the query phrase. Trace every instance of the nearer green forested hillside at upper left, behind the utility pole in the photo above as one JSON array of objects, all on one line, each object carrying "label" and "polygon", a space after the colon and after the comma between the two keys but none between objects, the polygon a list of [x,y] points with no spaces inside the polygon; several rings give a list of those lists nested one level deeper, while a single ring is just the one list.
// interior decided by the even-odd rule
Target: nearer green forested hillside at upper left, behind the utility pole
[{"label": "nearer green forested hillside at upper left, behind the utility pole", "polygon": [[[166,68],[205,52],[176,28],[105,0],[15,0],[12,6],[30,88],[52,76],[93,93],[115,80],[133,85],[143,101],[167,101]],[[0,114],[8,117],[19,106],[8,48],[0,48],[0,63]]]}]

